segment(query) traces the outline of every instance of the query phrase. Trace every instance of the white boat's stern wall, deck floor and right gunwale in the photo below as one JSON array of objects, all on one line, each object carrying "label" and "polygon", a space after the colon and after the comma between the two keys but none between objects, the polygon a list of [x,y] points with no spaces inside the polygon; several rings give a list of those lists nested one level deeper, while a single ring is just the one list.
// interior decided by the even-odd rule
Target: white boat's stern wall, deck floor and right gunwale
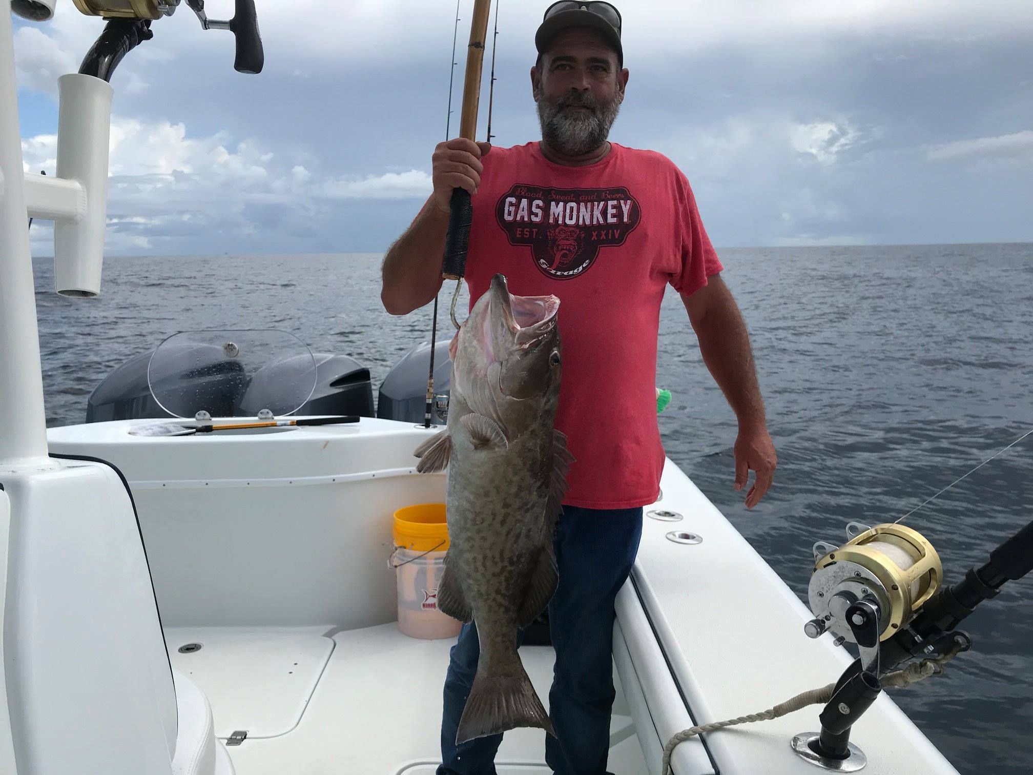
[{"label": "white boat's stern wall, deck floor and right gunwale", "polygon": [[[219,737],[248,733],[229,747],[240,775],[431,775],[450,643],[412,640],[389,623],[397,602],[385,562],[394,510],[441,498],[444,477],[411,468],[427,431],[364,417],[270,435],[130,435],[138,424],[48,435],[54,452],[103,458],[128,481],[174,664],[208,695]],[[617,599],[618,775],[658,773],[676,733],[771,708],[835,681],[851,660],[829,638],[804,636],[807,608],[669,461],[661,487]],[[656,508],[677,521],[653,519]],[[666,537],[682,531],[701,542]],[[178,652],[193,642],[204,648]],[[546,701],[550,650],[522,656]],[[820,710],[687,741],[675,773],[816,772],[789,744],[817,729]],[[507,734],[499,772],[546,773],[543,739]],[[888,692],[851,740],[871,775],[957,775]]]}]

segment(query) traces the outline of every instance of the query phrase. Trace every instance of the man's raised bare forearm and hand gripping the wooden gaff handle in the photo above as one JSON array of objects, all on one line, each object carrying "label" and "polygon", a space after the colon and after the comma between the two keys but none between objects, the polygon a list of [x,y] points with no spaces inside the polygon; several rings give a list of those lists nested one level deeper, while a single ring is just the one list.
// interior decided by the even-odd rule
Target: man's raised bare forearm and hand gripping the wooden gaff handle
[{"label": "man's raised bare forearm and hand gripping the wooden gaff handle", "polygon": [[407,315],[434,301],[441,288],[441,260],[448,233],[451,193],[465,188],[477,192],[487,143],[457,137],[434,151],[434,193],[412,224],[384,255],[380,268],[380,301],[393,315]]}]

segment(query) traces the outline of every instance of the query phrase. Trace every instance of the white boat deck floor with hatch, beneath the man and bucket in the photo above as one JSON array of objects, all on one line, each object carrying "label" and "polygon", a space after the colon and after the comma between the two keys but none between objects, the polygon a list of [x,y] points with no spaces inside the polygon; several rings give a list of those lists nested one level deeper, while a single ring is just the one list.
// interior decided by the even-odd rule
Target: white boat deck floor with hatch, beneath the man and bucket
[{"label": "white boat deck floor with hatch, beneath the man and bucket", "polygon": [[[227,748],[238,775],[433,775],[441,761],[451,639],[408,638],[395,623],[343,631],[169,627],[165,638],[173,665],[208,695],[216,735],[248,732]],[[201,649],[179,652],[191,643]],[[553,650],[520,653],[547,707]],[[645,775],[619,685],[611,730],[609,770]],[[499,775],[547,775],[544,733],[506,733],[496,763]]]}]

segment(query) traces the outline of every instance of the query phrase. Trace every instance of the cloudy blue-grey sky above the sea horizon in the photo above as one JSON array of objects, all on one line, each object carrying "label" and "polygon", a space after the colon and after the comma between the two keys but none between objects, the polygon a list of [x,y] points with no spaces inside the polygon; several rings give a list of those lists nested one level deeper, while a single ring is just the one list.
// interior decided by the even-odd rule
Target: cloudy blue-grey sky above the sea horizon
[{"label": "cloudy blue-grey sky above the sea horizon", "polygon": [[[715,244],[1033,241],[1030,0],[617,4],[631,79],[611,136],[681,166]],[[430,192],[455,0],[256,5],[260,75],[185,3],[116,71],[109,254],[382,251]],[[496,144],[540,136],[528,70],[547,5],[501,2]],[[101,27],[71,0],[15,20],[27,169],[54,174],[56,78]],[[34,254],[52,251],[34,225]]]}]

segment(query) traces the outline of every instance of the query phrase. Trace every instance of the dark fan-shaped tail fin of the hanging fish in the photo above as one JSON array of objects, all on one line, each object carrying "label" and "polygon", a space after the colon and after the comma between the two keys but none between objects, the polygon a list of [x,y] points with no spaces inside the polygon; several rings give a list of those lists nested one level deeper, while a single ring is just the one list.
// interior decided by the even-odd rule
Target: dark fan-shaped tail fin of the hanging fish
[{"label": "dark fan-shaped tail fin of the hanging fish", "polygon": [[519,671],[516,676],[505,677],[477,671],[456,731],[457,745],[518,726],[538,726],[556,737],[553,722],[522,664]]}]

